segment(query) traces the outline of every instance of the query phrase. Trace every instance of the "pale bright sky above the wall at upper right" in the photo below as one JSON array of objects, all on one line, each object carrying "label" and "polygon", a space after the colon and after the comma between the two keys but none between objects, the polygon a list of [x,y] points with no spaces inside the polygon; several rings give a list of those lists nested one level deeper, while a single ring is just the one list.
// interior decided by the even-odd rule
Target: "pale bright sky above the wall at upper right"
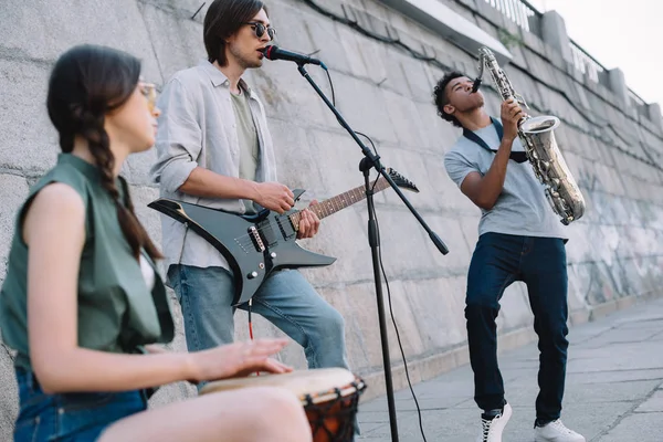
[{"label": "pale bright sky above the wall at upper right", "polygon": [[607,69],[619,67],[627,86],[663,107],[663,1],[528,0],[555,10],[567,34]]}]

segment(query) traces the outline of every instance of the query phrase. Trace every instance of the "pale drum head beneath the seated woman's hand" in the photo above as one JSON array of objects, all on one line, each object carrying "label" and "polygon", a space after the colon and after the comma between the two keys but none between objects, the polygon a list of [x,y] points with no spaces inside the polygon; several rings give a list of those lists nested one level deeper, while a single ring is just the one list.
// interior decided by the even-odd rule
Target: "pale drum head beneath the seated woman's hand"
[{"label": "pale drum head beneath the seated woman's hand", "polygon": [[355,376],[344,368],[317,368],[311,370],[297,370],[283,375],[260,375],[246,378],[224,379],[208,382],[200,389],[200,394],[235,390],[239,388],[253,387],[281,387],[292,391],[304,401],[306,396],[312,397],[312,402],[327,400],[326,393],[335,393],[339,389],[340,396],[354,393],[357,389],[352,387]]}]

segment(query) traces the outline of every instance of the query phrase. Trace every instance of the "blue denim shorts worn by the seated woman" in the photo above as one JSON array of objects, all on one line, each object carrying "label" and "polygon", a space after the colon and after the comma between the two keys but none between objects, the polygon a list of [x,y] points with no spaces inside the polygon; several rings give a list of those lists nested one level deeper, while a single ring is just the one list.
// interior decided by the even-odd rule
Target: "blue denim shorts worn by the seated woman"
[{"label": "blue denim shorts worn by the seated woman", "polygon": [[15,442],[90,442],[112,423],[147,409],[141,390],[46,394],[32,371],[17,368]]}]

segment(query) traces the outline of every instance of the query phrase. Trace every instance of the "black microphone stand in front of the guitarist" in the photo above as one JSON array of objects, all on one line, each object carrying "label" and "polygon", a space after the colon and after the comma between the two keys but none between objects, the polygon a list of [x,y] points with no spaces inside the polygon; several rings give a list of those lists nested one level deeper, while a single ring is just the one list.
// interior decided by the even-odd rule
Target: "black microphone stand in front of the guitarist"
[{"label": "black microphone stand in front of the guitarist", "polygon": [[[449,249],[446,245],[440,240],[440,238],[428,227],[425,221],[421,218],[419,212],[410,204],[410,201],[406,198],[406,196],[401,192],[398,186],[393,182],[389,173],[387,173],[385,167],[380,164],[380,157],[373,155],[373,152],[361,143],[355,130],[346,123],[340,113],[334,107],[334,105],[329,102],[329,99],[325,96],[323,91],[317,86],[317,84],[311,78],[308,72],[304,69],[304,62],[297,62],[298,71],[304,76],[308,83],[313,86],[315,92],[323,98],[327,107],[332,109],[334,115],[336,115],[336,119],[338,123],[350,134],[352,139],[359,145],[361,148],[361,152],[364,154],[364,158],[359,162],[359,170],[364,172],[365,182],[366,182],[366,201],[368,203],[368,239],[371,249],[372,256],[372,266],[373,266],[373,277],[376,281],[376,295],[378,302],[378,319],[380,324],[380,338],[382,344],[382,362],[385,364],[385,385],[387,389],[387,404],[389,407],[389,423],[391,424],[391,441],[398,442],[398,427],[396,422],[396,406],[393,401],[393,386],[391,382],[391,359],[389,357],[389,341],[387,335],[387,324],[385,322],[385,303],[382,299],[382,281],[380,276],[380,266],[379,266],[379,256],[378,256],[378,248],[379,248],[379,236],[376,227],[375,220],[375,206],[373,206],[373,192],[369,186],[368,176],[371,168],[375,168],[391,186],[393,191],[400,197],[400,199],[404,202],[404,204],[410,209],[410,212],[414,215],[417,221],[423,227],[423,229],[428,232],[431,241],[438,250],[443,254],[449,253]],[[323,66],[326,70],[326,66]]]}]

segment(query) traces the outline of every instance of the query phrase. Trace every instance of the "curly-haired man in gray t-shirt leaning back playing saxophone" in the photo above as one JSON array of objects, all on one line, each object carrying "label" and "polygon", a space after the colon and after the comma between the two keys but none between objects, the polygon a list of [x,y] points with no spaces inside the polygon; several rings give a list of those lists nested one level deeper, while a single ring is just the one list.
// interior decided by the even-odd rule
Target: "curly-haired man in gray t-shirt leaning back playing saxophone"
[{"label": "curly-haired man in gray t-shirt leaning back playing saxophone", "polygon": [[450,72],[433,95],[438,114],[463,128],[444,156],[446,172],[482,212],[465,298],[474,400],[483,410],[477,442],[502,441],[513,412],[497,366],[495,319],[504,291],[515,281],[527,286],[539,338],[535,441],[585,442],[559,420],[568,348],[568,236],[518,139],[523,109],[509,99],[502,103],[501,118],[492,117],[472,86],[462,73]]}]

